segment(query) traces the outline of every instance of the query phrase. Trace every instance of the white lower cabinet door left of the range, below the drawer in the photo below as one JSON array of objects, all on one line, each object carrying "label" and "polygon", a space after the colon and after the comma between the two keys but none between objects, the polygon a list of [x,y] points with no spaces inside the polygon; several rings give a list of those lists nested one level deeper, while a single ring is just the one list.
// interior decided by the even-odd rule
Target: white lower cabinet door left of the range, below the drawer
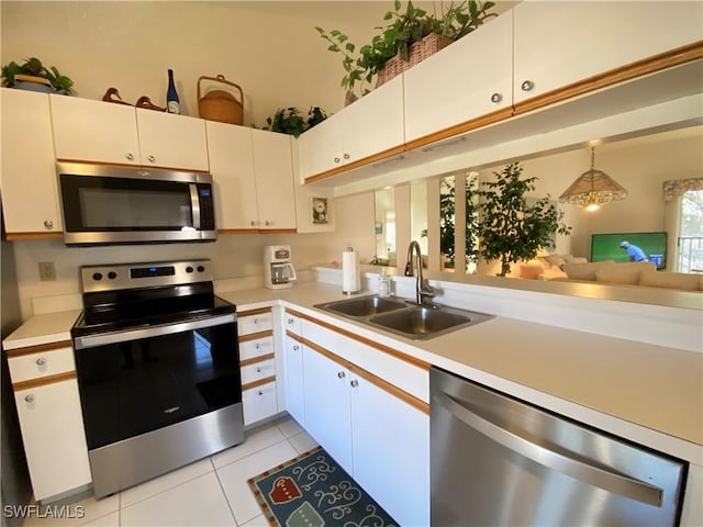
[{"label": "white lower cabinet door left of the range, below the drawer", "polygon": [[92,481],[78,395],[69,379],[14,392],[34,498]]}]

